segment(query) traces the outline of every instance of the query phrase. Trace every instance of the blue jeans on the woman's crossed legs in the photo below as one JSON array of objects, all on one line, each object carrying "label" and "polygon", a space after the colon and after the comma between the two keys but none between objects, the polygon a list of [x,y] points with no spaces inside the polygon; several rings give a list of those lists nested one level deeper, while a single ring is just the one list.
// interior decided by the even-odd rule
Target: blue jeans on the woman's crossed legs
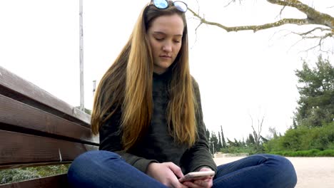
[{"label": "blue jeans on the woman's crossed legs", "polygon": [[[69,168],[71,187],[163,187],[158,182],[108,151],[91,151],[80,155]],[[251,155],[218,166],[213,187],[295,187],[297,176],[293,164],[278,155]]]}]

